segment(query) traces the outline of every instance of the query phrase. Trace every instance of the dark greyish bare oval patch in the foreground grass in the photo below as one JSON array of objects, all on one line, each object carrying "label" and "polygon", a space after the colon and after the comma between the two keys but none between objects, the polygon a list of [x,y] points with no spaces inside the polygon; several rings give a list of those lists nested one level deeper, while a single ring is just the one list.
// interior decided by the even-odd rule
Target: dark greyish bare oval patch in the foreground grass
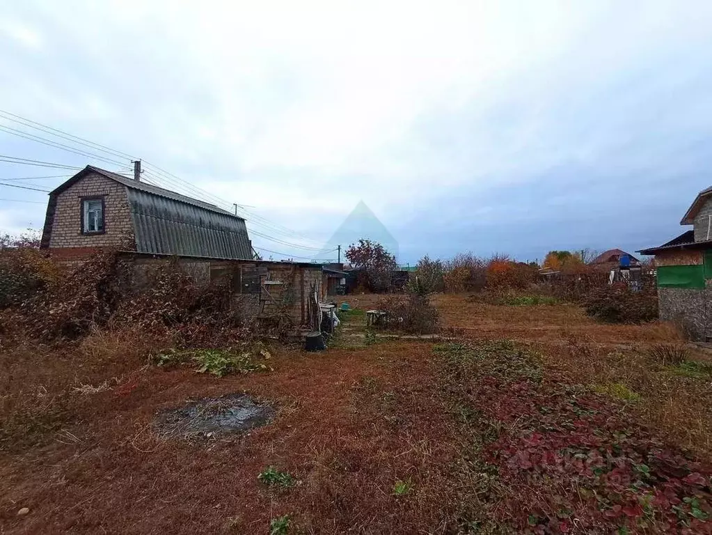
[{"label": "dark greyish bare oval patch in the foreground grass", "polygon": [[219,437],[266,425],[274,413],[273,407],[246,394],[230,394],[164,410],[154,424],[159,435],[167,438]]}]

